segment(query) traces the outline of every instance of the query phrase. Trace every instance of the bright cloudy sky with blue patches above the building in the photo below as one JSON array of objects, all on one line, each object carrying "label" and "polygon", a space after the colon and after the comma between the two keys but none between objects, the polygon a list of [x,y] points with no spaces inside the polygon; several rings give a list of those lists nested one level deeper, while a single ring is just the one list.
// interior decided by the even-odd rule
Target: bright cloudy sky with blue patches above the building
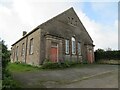
[{"label": "bright cloudy sky with blue patches above the building", "polygon": [[0,39],[8,49],[38,25],[73,7],[95,50],[118,50],[118,0],[0,0]]}]

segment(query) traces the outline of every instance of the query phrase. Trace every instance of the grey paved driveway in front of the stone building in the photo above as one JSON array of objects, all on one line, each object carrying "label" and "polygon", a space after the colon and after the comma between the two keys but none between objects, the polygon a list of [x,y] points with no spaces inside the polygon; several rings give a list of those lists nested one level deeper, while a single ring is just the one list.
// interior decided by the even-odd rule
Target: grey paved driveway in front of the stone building
[{"label": "grey paved driveway in front of the stone building", "polygon": [[27,88],[118,88],[117,65],[85,65],[63,70],[13,73]]}]

